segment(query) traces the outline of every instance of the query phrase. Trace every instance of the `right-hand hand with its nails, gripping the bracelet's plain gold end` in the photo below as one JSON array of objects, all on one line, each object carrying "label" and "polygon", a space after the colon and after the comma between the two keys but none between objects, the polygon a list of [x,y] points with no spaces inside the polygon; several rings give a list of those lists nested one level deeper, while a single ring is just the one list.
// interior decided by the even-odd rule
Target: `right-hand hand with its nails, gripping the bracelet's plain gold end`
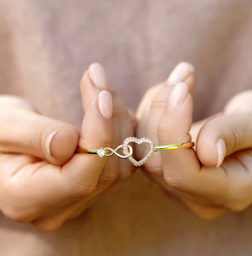
[{"label": "right-hand hand with its nails, gripping the bracelet's plain gold end", "polygon": [[[155,145],[189,142],[189,132],[197,138],[196,152],[155,152],[143,170],[197,216],[213,219],[225,210],[242,211],[252,202],[252,91],[192,125],[193,85],[193,67],[183,62],[168,81],[147,91],[137,113],[137,137],[149,137]],[[143,157],[141,150],[137,153]]]}]

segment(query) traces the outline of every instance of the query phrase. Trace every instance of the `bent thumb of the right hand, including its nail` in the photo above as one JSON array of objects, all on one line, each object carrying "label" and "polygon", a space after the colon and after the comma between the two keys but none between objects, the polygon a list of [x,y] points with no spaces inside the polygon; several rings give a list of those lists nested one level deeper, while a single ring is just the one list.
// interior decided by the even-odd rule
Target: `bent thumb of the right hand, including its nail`
[{"label": "bent thumb of the right hand, including its nail", "polygon": [[200,130],[197,155],[205,166],[220,166],[227,155],[252,147],[250,112],[233,113],[209,120]]}]

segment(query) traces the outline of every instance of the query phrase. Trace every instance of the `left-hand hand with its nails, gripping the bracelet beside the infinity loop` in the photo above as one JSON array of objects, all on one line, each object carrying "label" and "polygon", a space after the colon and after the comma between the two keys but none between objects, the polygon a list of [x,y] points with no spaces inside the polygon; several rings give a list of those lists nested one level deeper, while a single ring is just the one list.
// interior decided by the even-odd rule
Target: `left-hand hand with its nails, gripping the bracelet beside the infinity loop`
[{"label": "left-hand hand with its nails, gripping the bracelet beside the infinity loop", "polygon": [[0,209],[13,221],[53,231],[133,173],[134,166],[118,157],[74,153],[78,143],[115,148],[134,131],[134,118],[110,90],[100,64],[90,65],[80,87],[81,137],[72,125],[40,115],[21,98],[0,97]]}]

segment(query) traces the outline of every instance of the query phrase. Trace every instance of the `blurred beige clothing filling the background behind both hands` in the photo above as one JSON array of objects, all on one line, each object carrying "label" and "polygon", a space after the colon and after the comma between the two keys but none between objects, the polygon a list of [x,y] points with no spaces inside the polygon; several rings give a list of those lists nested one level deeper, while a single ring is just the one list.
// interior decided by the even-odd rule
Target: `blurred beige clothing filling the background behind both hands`
[{"label": "blurred beige clothing filling the background behind both hands", "polygon": [[[197,73],[198,120],[252,88],[251,14],[251,0],[0,0],[0,94],[80,128],[79,80],[91,62],[135,109],[185,60]],[[53,234],[0,215],[4,256],[251,254],[251,207],[201,221],[140,171]]]}]

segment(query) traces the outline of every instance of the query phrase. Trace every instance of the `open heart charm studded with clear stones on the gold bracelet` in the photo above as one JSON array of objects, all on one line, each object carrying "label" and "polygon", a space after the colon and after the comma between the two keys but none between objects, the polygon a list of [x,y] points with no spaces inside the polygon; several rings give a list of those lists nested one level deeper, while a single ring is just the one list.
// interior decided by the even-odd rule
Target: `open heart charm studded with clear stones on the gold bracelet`
[{"label": "open heart charm studded with clear stones on the gold bracelet", "polygon": [[153,155],[154,149],[155,149],[155,145],[152,139],[149,138],[135,138],[135,137],[128,137],[124,140],[123,142],[123,153],[125,155],[128,155],[128,144],[130,142],[135,142],[136,144],[140,145],[142,143],[148,143],[150,146],[149,152],[147,153],[147,155],[140,161],[136,161],[133,157],[129,157],[128,160],[134,165],[134,166],[141,166],[143,164],[145,164]]}]

